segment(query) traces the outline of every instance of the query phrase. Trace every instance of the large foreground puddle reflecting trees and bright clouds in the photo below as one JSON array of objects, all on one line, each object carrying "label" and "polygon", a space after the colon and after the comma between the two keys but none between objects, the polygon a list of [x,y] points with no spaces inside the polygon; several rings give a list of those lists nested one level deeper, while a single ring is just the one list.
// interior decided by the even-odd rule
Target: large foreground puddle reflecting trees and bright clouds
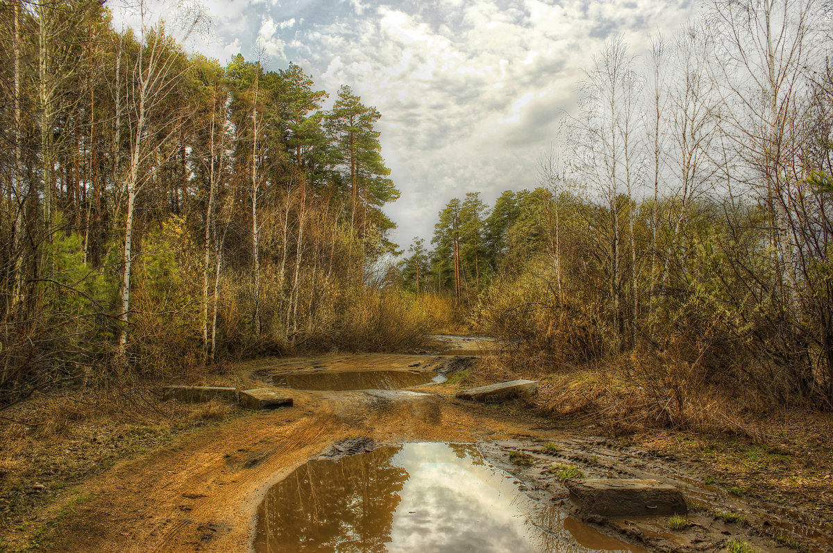
[{"label": "large foreground puddle reflecting trees and bright clouds", "polygon": [[406,444],[311,460],[267,492],[254,549],[642,551],[529,500],[512,481],[473,445]]}]

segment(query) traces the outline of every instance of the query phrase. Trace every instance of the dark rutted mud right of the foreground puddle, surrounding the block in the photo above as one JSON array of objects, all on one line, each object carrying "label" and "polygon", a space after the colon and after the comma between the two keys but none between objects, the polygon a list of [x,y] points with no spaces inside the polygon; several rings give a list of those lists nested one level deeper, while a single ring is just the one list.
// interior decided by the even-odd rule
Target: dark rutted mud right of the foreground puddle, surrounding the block
[{"label": "dark rutted mud right of the foreground puddle, surrounding the block", "polygon": [[[754,550],[833,550],[833,536],[796,524],[774,505],[741,500],[688,474],[673,459],[645,451],[618,448],[602,438],[546,440],[519,437],[481,447],[488,462],[501,467],[525,486],[530,495],[563,505],[569,520],[636,540],[651,550],[716,550],[730,542],[746,542]],[[572,505],[566,482],[582,478],[638,478],[659,480],[681,490],[689,513],[684,525],[671,529],[665,516],[582,516]],[[573,524],[566,521],[566,524]]]}]

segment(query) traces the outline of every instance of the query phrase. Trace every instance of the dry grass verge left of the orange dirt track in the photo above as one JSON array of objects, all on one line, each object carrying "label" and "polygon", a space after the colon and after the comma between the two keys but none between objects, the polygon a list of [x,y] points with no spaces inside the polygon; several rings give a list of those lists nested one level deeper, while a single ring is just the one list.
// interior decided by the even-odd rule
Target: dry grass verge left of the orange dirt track
[{"label": "dry grass verge left of the orange dirt track", "polygon": [[[199,380],[194,383],[205,383]],[[35,395],[3,410],[0,530],[26,520],[38,505],[118,460],[246,412],[219,400],[161,402],[157,391],[147,384],[113,385],[107,391]]]}]

